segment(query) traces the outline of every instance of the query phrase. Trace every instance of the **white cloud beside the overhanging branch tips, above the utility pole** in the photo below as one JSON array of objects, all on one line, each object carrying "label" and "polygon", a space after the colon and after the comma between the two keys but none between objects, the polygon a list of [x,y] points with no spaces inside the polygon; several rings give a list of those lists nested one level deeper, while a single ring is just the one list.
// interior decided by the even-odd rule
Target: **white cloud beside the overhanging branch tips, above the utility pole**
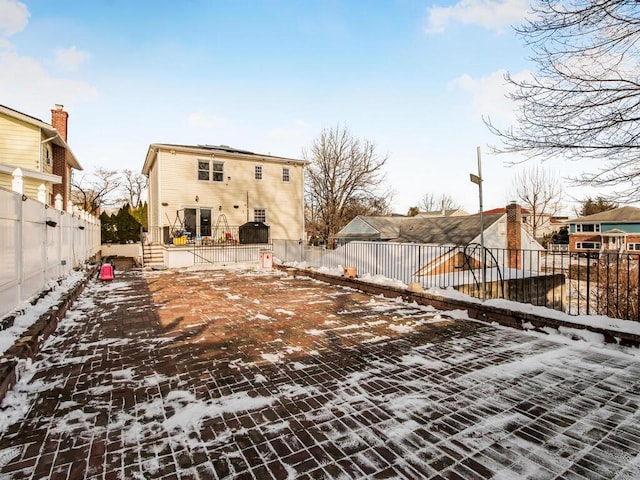
[{"label": "white cloud beside the overhanging branch tips, above the utility pole", "polygon": [[[505,80],[505,73],[505,70],[497,70],[481,78],[464,74],[449,82],[448,87],[468,93],[479,115],[491,117],[492,121],[513,124],[516,121],[516,105],[506,98],[512,86]],[[511,76],[514,80],[522,80],[530,77],[531,73],[523,71]]]}]

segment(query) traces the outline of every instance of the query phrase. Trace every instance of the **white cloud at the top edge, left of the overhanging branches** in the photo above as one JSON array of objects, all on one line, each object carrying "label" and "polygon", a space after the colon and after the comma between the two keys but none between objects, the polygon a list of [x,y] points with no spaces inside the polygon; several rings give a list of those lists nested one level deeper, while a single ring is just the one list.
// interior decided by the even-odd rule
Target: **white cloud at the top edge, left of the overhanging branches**
[{"label": "white cloud at the top edge, left of the overhanging branches", "polygon": [[426,31],[443,32],[451,23],[459,22],[502,32],[522,22],[528,11],[527,0],[460,0],[450,7],[430,7]]}]

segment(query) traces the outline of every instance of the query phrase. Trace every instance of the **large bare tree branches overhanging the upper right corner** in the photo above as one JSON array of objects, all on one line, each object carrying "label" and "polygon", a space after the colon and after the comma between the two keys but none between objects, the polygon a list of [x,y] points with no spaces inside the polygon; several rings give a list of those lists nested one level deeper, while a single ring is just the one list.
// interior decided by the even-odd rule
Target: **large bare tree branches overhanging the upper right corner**
[{"label": "large bare tree branches overhanging the upper right corner", "polygon": [[518,106],[517,125],[499,128],[494,151],[525,158],[597,158],[578,184],[616,188],[619,201],[640,199],[640,7],[627,0],[538,0],[516,28],[539,70],[506,80]]}]

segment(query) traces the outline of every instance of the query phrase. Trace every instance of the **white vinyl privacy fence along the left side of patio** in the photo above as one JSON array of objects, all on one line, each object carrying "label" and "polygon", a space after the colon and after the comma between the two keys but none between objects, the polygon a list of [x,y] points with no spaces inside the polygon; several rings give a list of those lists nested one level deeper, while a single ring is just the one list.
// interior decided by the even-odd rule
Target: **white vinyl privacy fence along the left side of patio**
[{"label": "white vinyl privacy fence along the left side of patio", "polygon": [[99,219],[0,188],[0,318],[99,251]]}]

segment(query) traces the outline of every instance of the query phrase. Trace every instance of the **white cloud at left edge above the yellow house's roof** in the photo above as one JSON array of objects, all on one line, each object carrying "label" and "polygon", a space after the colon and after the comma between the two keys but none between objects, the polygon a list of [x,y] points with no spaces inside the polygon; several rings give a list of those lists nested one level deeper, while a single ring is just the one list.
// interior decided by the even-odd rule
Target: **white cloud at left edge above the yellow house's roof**
[{"label": "white cloud at left edge above the yellow house's roof", "polygon": [[31,115],[56,103],[72,106],[76,101],[98,97],[91,85],[54,77],[37,60],[18,55],[6,43],[0,44],[0,92],[3,98],[11,99],[8,106]]}]

